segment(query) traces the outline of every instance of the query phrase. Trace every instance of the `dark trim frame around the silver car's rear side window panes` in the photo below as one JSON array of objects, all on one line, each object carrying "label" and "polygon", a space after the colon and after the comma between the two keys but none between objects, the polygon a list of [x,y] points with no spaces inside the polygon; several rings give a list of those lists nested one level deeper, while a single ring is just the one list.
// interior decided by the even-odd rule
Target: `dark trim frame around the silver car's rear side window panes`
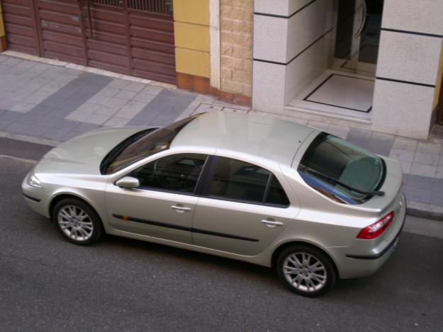
[{"label": "dark trim frame around the silver car's rear side window panes", "polygon": [[[264,189],[264,193],[263,193],[263,197],[262,197],[262,201],[261,202],[257,202],[257,201],[252,201],[252,200],[236,200],[234,198],[225,198],[223,196],[218,196],[218,195],[211,195],[209,193],[209,189],[211,187],[211,183],[213,181],[214,178],[214,174],[215,174],[215,167],[218,165],[218,162],[220,161],[220,159],[222,158],[228,158],[228,159],[233,159],[233,160],[237,160],[237,161],[242,161],[248,164],[252,164],[250,161],[245,161],[245,160],[241,160],[241,159],[237,159],[237,158],[232,158],[230,156],[213,156],[212,160],[211,160],[211,164],[208,166],[208,173],[206,174],[206,178],[205,178],[205,182],[203,184],[203,187],[201,188],[201,197],[203,198],[211,198],[214,200],[225,200],[228,202],[239,202],[239,203],[246,203],[246,204],[253,204],[253,205],[262,205],[262,206],[269,206],[269,207],[279,207],[282,209],[287,209],[288,207],[291,206],[291,200],[289,199],[288,194],[286,193],[286,190],[284,189],[283,185],[281,185],[281,182],[279,181],[279,178],[277,178],[274,173],[272,171],[269,171],[269,169],[262,167],[262,166],[258,166],[257,164],[252,164],[254,166],[258,166],[260,168],[265,169],[266,171],[269,172],[269,176],[268,176],[268,180],[267,180],[267,185],[266,188]],[[204,171],[204,169],[203,169]],[[203,173],[202,171],[202,173]],[[273,178],[276,178],[277,181],[279,181],[279,184],[281,185],[281,188],[283,189],[286,198],[288,198],[289,204],[288,205],[281,205],[281,204],[271,204],[271,203],[267,203],[266,200],[268,198],[268,194],[269,194],[269,190],[271,188],[271,183]]]}]

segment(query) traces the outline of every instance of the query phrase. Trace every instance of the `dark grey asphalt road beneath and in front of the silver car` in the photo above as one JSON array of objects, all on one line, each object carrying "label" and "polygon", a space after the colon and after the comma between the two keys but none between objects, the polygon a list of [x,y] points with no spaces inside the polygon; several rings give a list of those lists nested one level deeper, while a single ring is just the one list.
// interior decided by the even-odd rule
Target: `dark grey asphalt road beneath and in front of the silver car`
[{"label": "dark grey asphalt road beneath and in front of the silver car", "polygon": [[408,220],[376,275],[308,299],[248,263],[115,236],[69,244],[23,201],[31,167],[0,156],[1,331],[442,331],[443,222]]}]

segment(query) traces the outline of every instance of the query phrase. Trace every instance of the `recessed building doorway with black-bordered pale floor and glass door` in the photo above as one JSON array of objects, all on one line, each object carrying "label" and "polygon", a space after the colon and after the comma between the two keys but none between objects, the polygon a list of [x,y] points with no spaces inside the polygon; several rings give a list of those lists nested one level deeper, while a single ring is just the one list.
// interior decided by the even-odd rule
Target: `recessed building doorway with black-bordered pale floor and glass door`
[{"label": "recessed building doorway with black-bordered pale floor and glass door", "polygon": [[337,0],[332,11],[327,66],[288,107],[370,120],[383,0]]}]

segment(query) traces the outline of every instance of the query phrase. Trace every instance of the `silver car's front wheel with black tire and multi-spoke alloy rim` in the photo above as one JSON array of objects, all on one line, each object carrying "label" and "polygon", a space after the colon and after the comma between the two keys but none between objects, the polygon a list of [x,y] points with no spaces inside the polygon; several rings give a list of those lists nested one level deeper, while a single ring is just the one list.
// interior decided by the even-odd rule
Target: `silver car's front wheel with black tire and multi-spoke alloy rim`
[{"label": "silver car's front wheel with black tire and multi-spoke alloy rim", "polygon": [[77,198],[60,200],[52,210],[52,220],[62,236],[72,244],[87,246],[103,235],[103,224],[95,210]]}]

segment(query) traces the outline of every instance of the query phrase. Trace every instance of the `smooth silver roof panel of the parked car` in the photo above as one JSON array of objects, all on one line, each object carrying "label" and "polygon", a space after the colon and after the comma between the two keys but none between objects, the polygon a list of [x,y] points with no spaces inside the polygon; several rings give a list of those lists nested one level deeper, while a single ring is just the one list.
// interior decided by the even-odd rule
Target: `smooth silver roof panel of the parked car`
[{"label": "smooth silver roof panel of the parked car", "polygon": [[189,122],[171,147],[208,147],[252,154],[291,166],[296,151],[313,127],[272,116],[209,112]]}]

